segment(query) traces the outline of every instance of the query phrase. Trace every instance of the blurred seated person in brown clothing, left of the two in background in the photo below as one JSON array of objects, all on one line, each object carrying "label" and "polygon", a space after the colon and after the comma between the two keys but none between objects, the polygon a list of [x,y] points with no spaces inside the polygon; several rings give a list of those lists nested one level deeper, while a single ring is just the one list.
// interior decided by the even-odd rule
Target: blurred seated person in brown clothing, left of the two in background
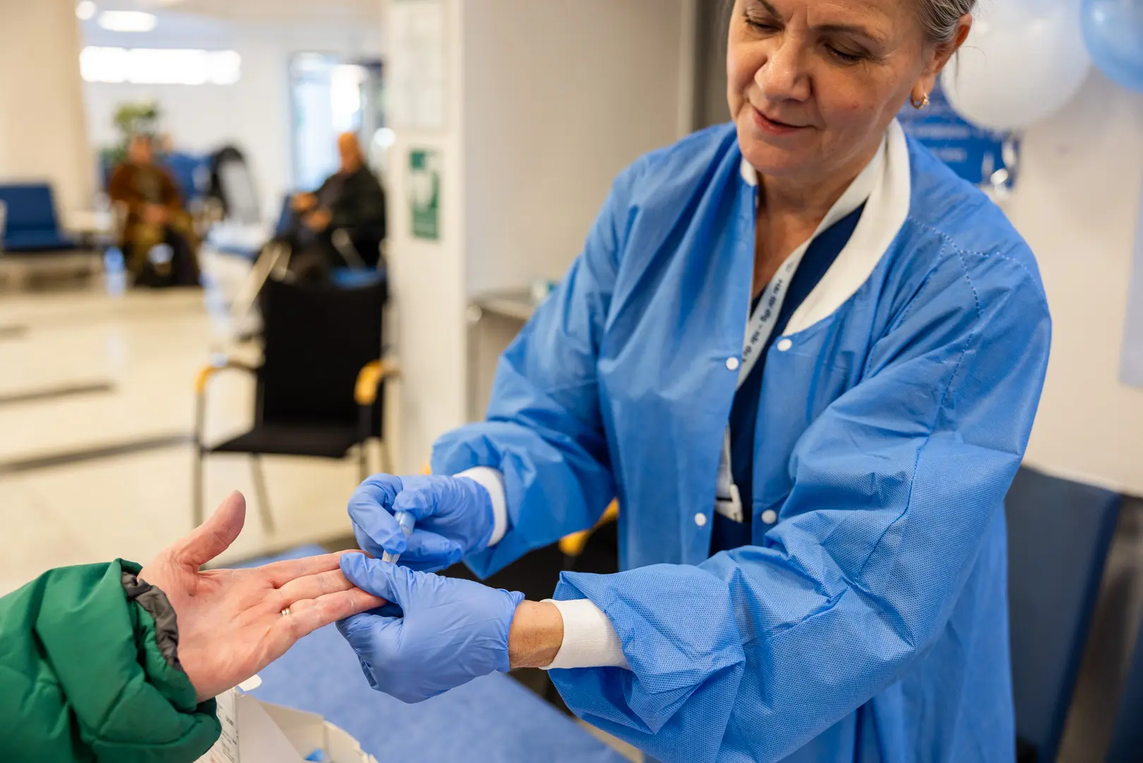
[{"label": "blurred seated person in brown clothing, left of the two in background", "polygon": [[135,135],[127,160],[107,182],[112,201],[127,205],[120,247],[139,286],[198,286],[198,240],[178,185],[154,159],[149,135]]}]

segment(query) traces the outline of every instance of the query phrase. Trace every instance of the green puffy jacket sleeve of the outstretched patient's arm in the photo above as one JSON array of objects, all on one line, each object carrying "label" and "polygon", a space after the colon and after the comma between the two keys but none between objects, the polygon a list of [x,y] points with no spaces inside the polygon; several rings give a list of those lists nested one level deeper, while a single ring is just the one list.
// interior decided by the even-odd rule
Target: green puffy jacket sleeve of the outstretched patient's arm
[{"label": "green puffy jacket sleeve of the outstretched patient's arm", "polygon": [[130,562],[62,567],[0,598],[0,758],[183,763],[218,738],[178,665],[175,613]]}]

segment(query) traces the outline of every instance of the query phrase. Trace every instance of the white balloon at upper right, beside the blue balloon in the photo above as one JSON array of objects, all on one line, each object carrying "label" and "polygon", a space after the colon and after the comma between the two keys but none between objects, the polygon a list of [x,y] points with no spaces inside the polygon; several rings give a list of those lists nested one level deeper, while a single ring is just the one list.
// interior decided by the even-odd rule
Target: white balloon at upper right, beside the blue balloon
[{"label": "white balloon at upper right, beside the blue balloon", "polygon": [[1076,0],[993,0],[941,85],[968,121],[1018,129],[1062,109],[1090,69]]}]

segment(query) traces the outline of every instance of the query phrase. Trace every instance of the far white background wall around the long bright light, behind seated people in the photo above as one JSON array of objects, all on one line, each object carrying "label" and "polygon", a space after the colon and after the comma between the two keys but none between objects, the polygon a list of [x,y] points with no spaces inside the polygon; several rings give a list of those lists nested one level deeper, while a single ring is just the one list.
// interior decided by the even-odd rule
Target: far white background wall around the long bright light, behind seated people
[{"label": "far white background wall around the long bright light, behind seated people", "polygon": [[242,56],[234,85],[110,85],[87,82],[88,122],[96,146],[114,143],[112,117],[126,101],[157,100],[163,127],[176,145],[210,151],[234,144],[246,153],[262,196],[263,210],[275,217],[290,190],[289,57],[294,53],[337,53],[378,57],[381,30],[370,26],[270,26],[174,16],[147,34],[114,34],[88,25],[86,45],[230,49]]}]

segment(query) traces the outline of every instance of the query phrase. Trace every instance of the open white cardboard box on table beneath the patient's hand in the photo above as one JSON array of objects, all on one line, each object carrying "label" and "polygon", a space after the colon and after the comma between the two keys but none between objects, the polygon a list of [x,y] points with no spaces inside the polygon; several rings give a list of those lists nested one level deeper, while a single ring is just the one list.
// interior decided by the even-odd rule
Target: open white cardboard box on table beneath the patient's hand
[{"label": "open white cardboard box on table beneath the patient's hand", "polygon": [[[253,679],[243,688],[255,689]],[[198,763],[377,763],[353,737],[314,713],[262,702],[238,689],[217,698],[222,737]]]}]

